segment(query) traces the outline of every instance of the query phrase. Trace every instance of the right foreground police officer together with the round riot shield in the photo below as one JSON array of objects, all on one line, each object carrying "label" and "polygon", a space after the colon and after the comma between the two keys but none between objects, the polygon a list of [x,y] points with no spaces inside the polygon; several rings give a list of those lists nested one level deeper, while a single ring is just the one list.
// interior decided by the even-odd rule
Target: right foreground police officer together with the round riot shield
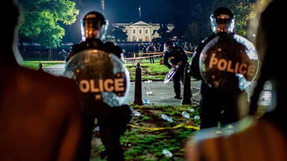
[{"label": "right foreground police officer together with the round riot shield", "polygon": [[201,79],[201,128],[239,120],[238,107],[248,106],[244,91],[256,76],[254,46],[233,33],[233,13],[221,7],[210,16],[213,34],[196,48],[191,76]]}]

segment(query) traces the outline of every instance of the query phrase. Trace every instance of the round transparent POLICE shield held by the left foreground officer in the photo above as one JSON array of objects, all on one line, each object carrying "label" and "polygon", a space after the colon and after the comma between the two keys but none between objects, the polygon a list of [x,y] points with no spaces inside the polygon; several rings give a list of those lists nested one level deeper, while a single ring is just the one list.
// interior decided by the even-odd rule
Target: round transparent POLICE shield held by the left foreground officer
[{"label": "round transparent POLICE shield held by the left foreground officer", "polygon": [[129,72],[124,63],[99,49],[86,49],[71,57],[63,75],[78,83],[82,111],[86,113],[96,113],[101,103],[121,106],[129,91]]}]

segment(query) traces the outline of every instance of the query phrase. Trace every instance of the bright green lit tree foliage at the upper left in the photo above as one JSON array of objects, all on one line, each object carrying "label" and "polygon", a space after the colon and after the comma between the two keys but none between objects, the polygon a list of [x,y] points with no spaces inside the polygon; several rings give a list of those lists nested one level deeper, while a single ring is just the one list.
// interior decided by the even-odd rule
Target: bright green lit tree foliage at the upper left
[{"label": "bright green lit tree foliage at the upper left", "polygon": [[76,21],[79,10],[69,0],[19,0],[22,16],[19,36],[29,38],[42,47],[56,48],[60,46],[65,34],[62,22],[70,25]]}]

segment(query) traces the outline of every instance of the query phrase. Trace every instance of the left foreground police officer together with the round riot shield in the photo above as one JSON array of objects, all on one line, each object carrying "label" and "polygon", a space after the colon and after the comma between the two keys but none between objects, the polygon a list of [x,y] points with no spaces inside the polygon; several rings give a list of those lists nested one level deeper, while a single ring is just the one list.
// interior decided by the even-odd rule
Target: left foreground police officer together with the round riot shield
[{"label": "left foreground police officer together with the round riot shield", "polygon": [[120,135],[131,119],[131,108],[123,105],[129,91],[129,73],[121,61],[121,48],[102,41],[107,21],[98,12],[81,21],[82,42],[72,47],[64,75],[79,86],[83,112],[83,138],[78,160],[89,160],[94,121],[100,129],[108,160],[124,160]]}]

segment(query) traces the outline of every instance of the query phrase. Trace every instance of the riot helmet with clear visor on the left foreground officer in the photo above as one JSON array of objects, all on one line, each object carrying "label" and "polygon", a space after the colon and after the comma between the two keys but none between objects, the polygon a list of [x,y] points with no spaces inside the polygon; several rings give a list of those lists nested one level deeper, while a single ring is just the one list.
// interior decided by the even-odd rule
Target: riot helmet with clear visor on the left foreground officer
[{"label": "riot helmet with clear visor on the left foreground officer", "polygon": [[89,12],[84,19],[81,20],[82,40],[101,39],[106,37],[108,28],[108,20],[99,12]]}]

